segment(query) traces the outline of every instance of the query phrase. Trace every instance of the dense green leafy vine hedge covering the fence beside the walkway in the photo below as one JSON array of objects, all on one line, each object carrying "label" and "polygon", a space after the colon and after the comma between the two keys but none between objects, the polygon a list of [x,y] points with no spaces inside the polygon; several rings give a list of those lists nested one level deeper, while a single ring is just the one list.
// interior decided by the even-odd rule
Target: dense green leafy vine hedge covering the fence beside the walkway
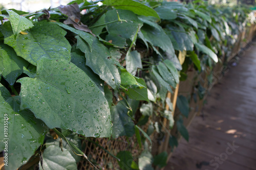
[{"label": "dense green leafy vine hedge covering the fence beside the walkway", "polygon": [[[183,115],[174,120],[172,107],[164,107],[172,106],[167,91],[186,79],[189,68],[212,68],[218,56],[231,51],[234,36],[254,21],[246,8],[215,8],[201,1],[98,2],[77,0],[30,14],[1,11],[0,125],[8,133],[0,133],[0,150],[8,154],[5,169],[18,168],[33,154],[41,158],[42,151],[44,169],[76,169],[80,157],[72,150],[86,157],[77,134],[136,134],[141,146],[161,126],[150,123],[147,132],[140,128],[153,114],[167,118],[167,128],[176,121],[188,139],[182,123],[188,115],[186,98],[178,99]],[[63,139],[63,152],[53,131]],[[128,167],[122,162],[133,159],[131,153],[118,153],[120,167],[164,166],[159,160],[166,155],[153,159],[148,147],[144,150],[143,159]]]}]

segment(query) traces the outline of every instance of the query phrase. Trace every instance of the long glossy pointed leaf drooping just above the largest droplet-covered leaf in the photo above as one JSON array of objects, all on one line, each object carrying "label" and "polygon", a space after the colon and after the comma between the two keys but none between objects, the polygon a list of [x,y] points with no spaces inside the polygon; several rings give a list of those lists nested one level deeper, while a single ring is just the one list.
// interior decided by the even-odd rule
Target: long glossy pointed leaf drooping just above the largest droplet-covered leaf
[{"label": "long glossy pointed leaf drooping just above the largest droplet-covered leaf", "polygon": [[92,44],[92,52],[88,45],[81,38],[77,38],[77,48],[79,48],[86,56],[86,65],[93,72],[108,83],[113,89],[120,86],[121,80],[117,67],[116,60],[111,57],[109,49],[94,37]]}]

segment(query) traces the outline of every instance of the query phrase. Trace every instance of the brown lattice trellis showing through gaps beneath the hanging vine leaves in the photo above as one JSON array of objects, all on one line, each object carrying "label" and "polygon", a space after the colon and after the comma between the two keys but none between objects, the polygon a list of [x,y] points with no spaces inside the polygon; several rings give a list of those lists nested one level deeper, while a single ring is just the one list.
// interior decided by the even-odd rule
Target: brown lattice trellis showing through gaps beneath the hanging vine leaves
[{"label": "brown lattice trellis showing through gaps beneath the hanging vine leaves", "polygon": [[[175,90],[175,95],[172,98],[172,101],[174,103],[174,108],[176,105],[176,99],[178,94],[178,88]],[[167,94],[168,98],[171,98],[170,93]],[[168,106],[166,106],[168,108]],[[146,125],[142,127],[142,129],[146,132],[148,125],[152,122],[153,124],[155,122],[163,122],[162,126],[165,126],[168,124],[167,120],[161,116],[157,116],[156,114],[153,114],[147,122]],[[168,129],[162,129],[162,132],[165,132]],[[166,133],[166,132],[165,132]],[[153,156],[161,153],[162,151],[166,150],[166,134],[165,133],[157,133],[154,132],[151,134],[150,138],[152,140],[151,145],[151,153]],[[149,142],[148,142],[149,143]],[[117,139],[109,139],[109,138],[85,138],[82,141],[82,146],[84,147],[83,153],[85,153],[89,160],[93,162],[93,164],[99,168],[99,169],[120,169],[118,165],[118,161],[116,158],[111,156],[108,152],[112,153],[113,155],[117,155],[120,151],[130,151],[134,157],[134,159],[138,159],[138,156],[143,151],[143,148],[139,148],[139,144],[137,142],[137,138],[134,135],[133,137],[126,137],[121,136]],[[102,148],[104,149],[102,149]],[[106,151],[108,152],[106,152]],[[86,159],[81,160],[78,163],[78,169],[95,169],[95,167]]]}]

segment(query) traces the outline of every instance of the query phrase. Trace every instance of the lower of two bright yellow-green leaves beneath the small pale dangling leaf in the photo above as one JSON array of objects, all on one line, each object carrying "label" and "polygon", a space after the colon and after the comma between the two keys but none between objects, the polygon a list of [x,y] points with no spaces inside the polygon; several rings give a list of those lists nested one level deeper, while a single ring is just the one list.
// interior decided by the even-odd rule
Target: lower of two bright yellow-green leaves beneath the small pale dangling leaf
[{"label": "lower of two bright yellow-green leaves beneath the small pale dangling leaf", "polygon": [[140,85],[140,87],[129,88],[126,93],[129,95],[129,98],[131,99],[148,102],[146,83],[141,78],[135,77],[135,79],[137,83]]}]

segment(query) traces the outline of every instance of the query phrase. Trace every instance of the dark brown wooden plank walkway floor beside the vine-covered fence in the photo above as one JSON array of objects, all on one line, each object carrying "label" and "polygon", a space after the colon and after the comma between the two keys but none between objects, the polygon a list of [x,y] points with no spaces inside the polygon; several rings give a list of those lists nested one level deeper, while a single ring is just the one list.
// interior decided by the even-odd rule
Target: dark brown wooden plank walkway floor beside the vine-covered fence
[{"label": "dark brown wooden plank walkway floor beside the vine-covered fence", "polygon": [[[255,41],[255,40],[254,40]],[[215,85],[164,170],[256,169],[256,43]]]}]

